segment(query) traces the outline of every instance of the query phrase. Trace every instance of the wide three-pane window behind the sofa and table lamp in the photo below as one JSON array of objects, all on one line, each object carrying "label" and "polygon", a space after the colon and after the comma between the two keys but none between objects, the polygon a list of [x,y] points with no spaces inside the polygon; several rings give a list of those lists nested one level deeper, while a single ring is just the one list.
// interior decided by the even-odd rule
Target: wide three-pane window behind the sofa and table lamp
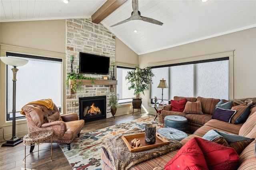
[{"label": "wide three-pane window behind the sofa and table lamp", "polygon": [[174,96],[229,99],[228,57],[204,61],[152,67],[151,102],[154,96],[162,99],[162,89],[157,88],[164,78],[168,88],[163,89],[165,104]]}]

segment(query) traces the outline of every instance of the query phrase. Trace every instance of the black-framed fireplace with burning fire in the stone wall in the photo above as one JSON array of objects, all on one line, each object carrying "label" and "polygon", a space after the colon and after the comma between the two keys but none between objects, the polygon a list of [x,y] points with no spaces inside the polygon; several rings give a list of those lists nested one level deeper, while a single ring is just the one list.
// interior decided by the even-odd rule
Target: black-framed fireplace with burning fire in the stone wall
[{"label": "black-framed fireplace with burning fire in the stone wall", "polygon": [[106,119],[106,96],[79,98],[79,118],[85,122]]}]

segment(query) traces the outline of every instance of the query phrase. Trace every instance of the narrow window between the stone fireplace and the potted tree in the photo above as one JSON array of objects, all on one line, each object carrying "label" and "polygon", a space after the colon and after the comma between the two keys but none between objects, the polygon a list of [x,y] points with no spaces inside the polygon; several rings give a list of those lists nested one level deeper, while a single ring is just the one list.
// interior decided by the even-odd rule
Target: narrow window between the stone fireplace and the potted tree
[{"label": "narrow window between the stone fireplace and the potted tree", "polygon": [[134,97],[134,90],[128,90],[130,83],[125,80],[128,71],[132,71],[135,68],[117,66],[116,68],[116,79],[118,84],[116,86],[116,93],[120,95],[119,104],[131,103]]}]

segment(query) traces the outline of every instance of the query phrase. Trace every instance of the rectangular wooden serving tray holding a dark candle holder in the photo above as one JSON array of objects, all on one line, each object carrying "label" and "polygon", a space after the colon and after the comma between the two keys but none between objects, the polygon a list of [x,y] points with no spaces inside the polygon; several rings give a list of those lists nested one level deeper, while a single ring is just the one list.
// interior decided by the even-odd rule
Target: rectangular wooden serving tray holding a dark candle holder
[{"label": "rectangular wooden serving tray holding a dark candle holder", "polygon": [[[140,144],[142,145],[141,147],[137,147],[137,148],[132,148],[131,147],[131,141],[132,139],[140,139]],[[144,150],[149,150],[149,149],[153,149],[162,145],[168,145],[169,141],[167,141],[161,134],[156,133],[156,143],[154,144],[149,144],[146,143],[145,141],[145,133],[136,133],[133,135],[126,135],[126,136],[122,136],[122,139],[124,140],[126,146],[128,147],[128,149],[130,150],[130,152],[141,152]]]}]

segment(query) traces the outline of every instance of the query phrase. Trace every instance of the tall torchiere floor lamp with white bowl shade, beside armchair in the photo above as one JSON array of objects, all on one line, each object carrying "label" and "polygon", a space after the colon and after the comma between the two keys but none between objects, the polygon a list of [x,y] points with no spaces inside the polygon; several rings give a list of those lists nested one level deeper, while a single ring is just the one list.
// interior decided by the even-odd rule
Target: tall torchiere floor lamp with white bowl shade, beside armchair
[{"label": "tall torchiere floor lamp with white bowl shade, beside armchair", "polygon": [[12,139],[9,139],[4,143],[2,146],[11,146],[14,147],[15,145],[18,145],[19,143],[22,143],[22,139],[16,137],[16,74],[18,72],[17,66],[24,66],[28,63],[28,60],[26,59],[20,59],[15,57],[0,57],[2,62],[4,62],[7,65],[13,66],[12,72],[13,72],[13,91],[12,91]]}]

